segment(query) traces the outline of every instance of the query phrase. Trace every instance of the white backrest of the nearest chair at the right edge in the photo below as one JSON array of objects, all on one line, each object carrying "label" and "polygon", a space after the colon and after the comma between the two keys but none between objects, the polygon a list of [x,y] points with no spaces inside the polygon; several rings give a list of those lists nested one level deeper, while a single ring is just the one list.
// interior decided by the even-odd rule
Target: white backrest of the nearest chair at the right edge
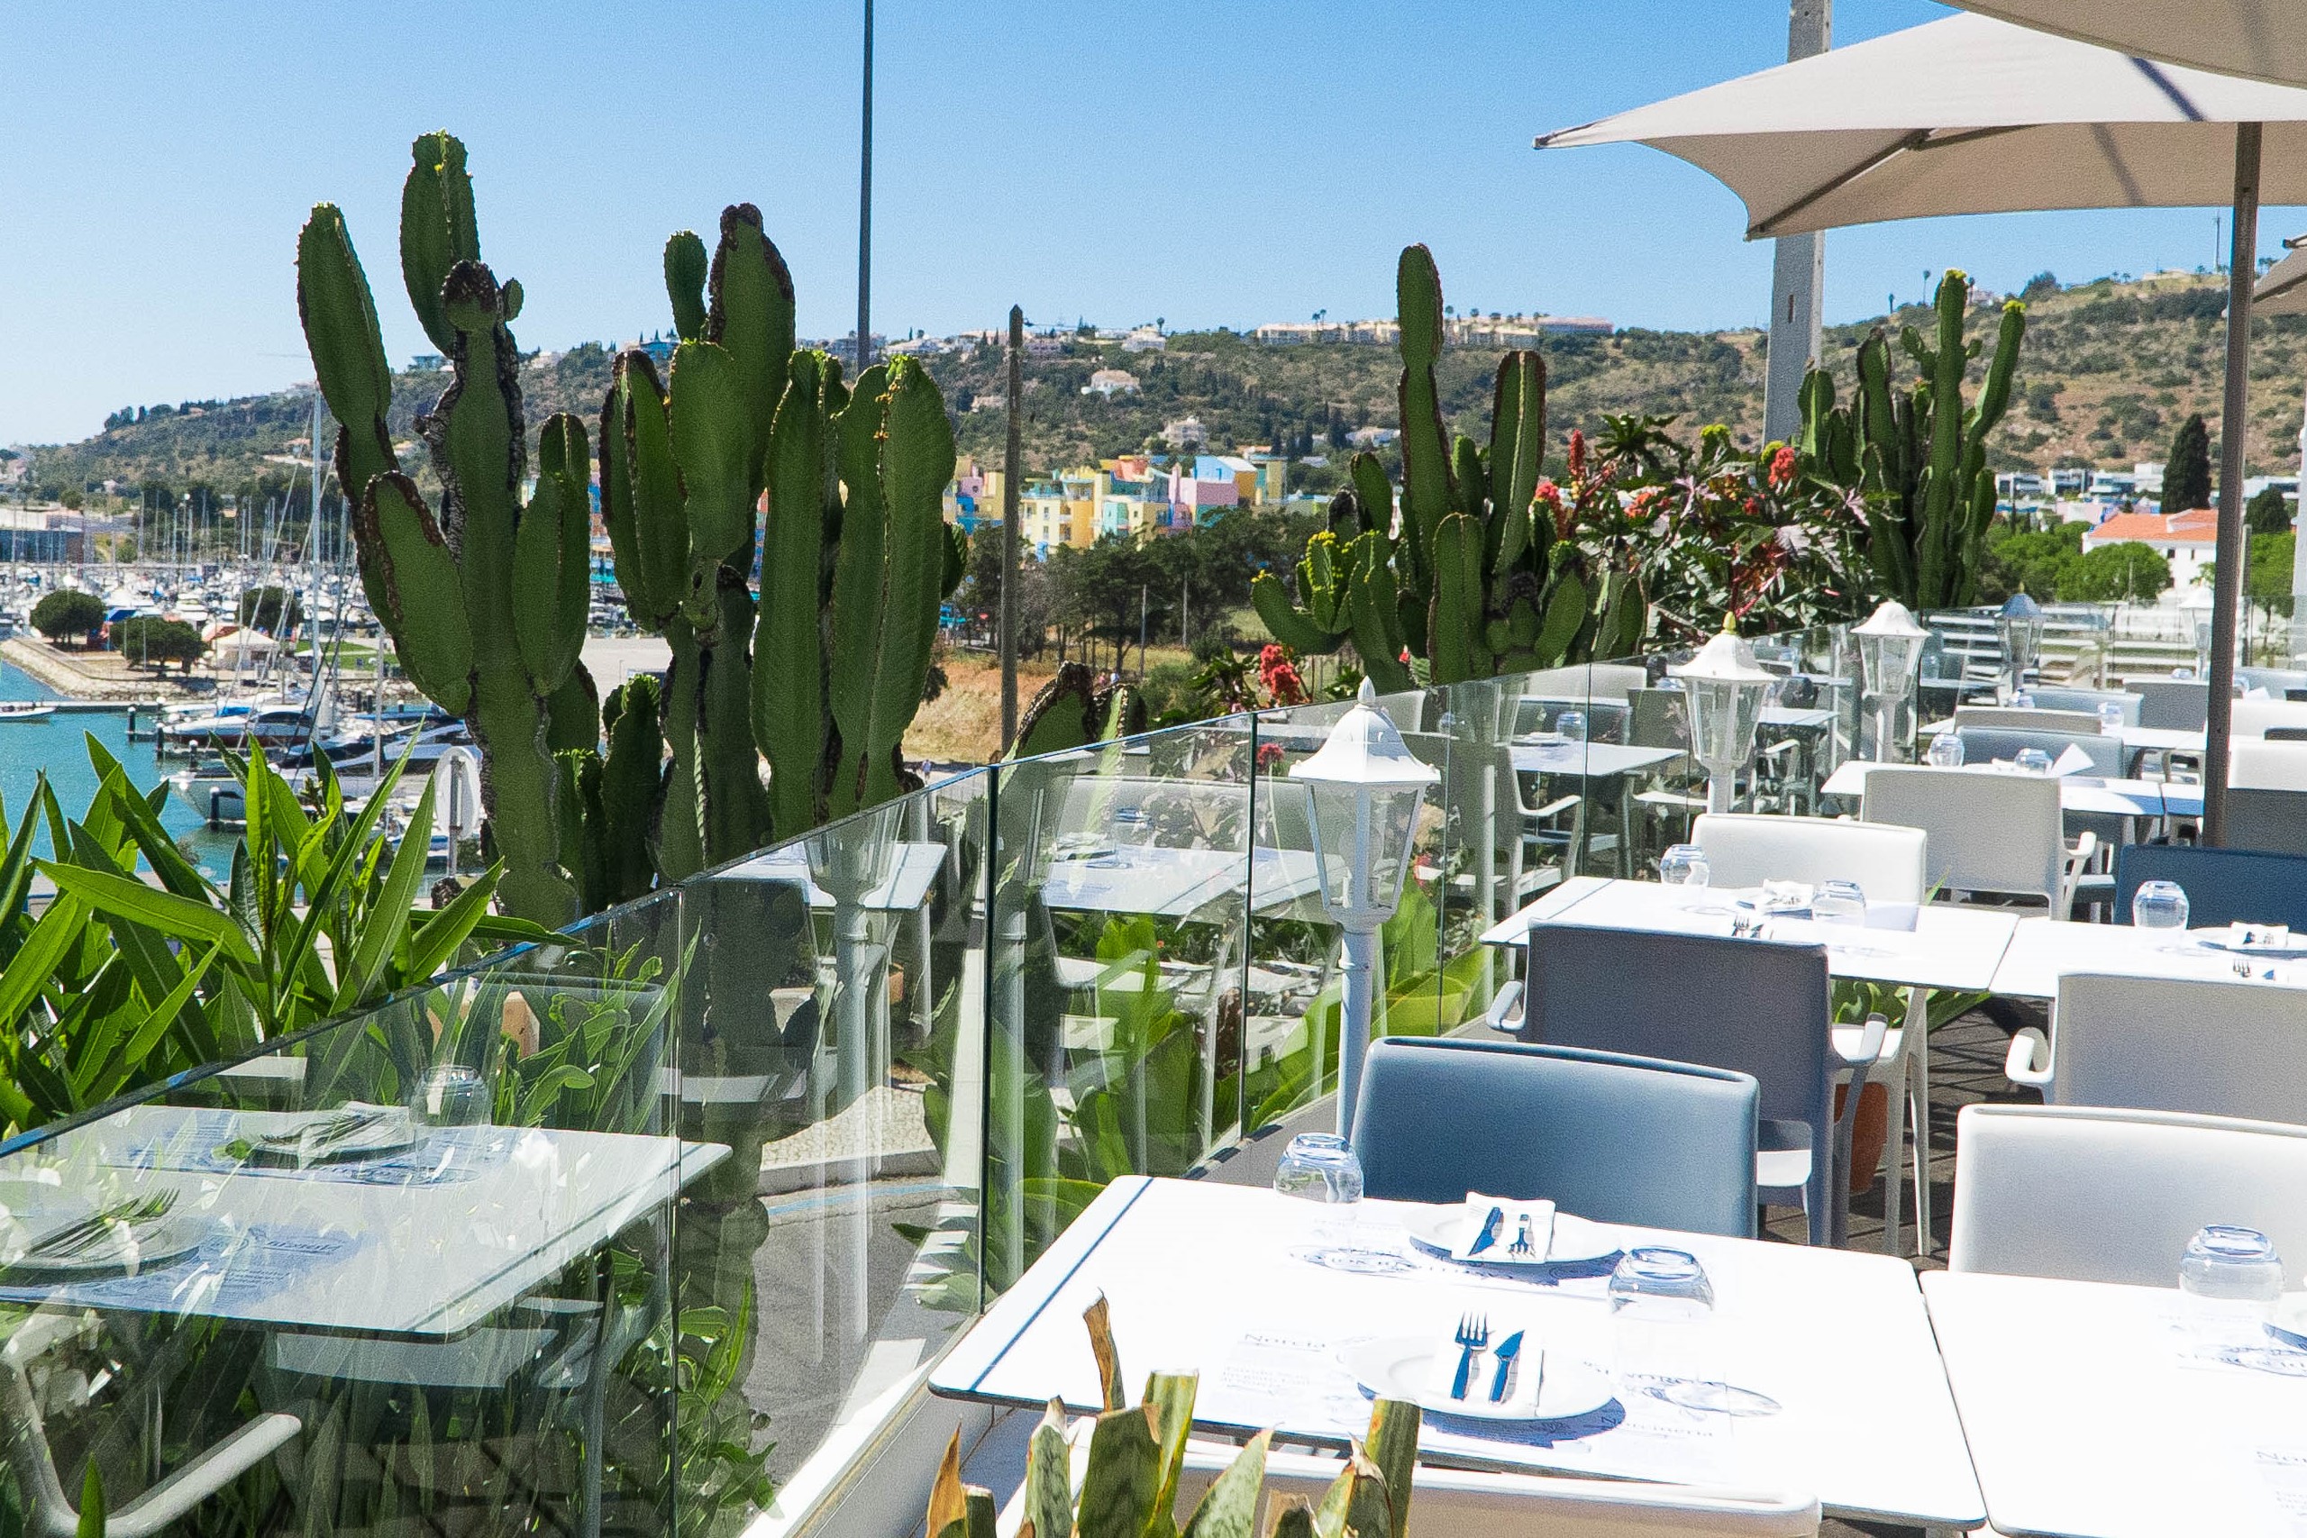
[{"label": "white backrest of the nearest chair at the right edge", "polygon": [[1966,1105],[1949,1271],[2176,1287],[2208,1222],[2307,1257],[2307,1128],[2180,1111]]}]

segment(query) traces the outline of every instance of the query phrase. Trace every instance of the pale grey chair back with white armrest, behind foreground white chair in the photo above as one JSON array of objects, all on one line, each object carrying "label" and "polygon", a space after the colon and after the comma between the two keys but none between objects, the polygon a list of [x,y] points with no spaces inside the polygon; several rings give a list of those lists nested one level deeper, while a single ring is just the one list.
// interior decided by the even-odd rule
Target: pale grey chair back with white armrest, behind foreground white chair
[{"label": "pale grey chair back with white armrest, behind foreground white chair", "polygon": [[2049,1105],[2307,1125],[2307,994],[2265,982],[2067,973],[2051,1040],[2026,1026],[2005,1072]]}]

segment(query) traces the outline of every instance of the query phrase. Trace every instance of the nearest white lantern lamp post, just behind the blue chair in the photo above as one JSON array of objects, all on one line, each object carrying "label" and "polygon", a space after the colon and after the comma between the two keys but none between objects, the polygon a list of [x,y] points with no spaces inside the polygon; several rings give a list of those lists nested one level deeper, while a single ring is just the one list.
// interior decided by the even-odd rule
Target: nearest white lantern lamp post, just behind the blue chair
[{"label": "nearest white lantern lamp post, just behind the blue chair", "polygon": [[1313,800],[1313,858],[1322,906],[1345,932],[1345,1028],[1338,1042],[1338,1134],[1354,1132],[1361,1058],[1370,1049],[1370,987],[1377,929],[1403,902],[1419,807],[1440,772],[1412,756],[1403,733],[1377,708],[1377,689],[1361,680],[1354,708],[1329,729],[1329,740],[1290,768]]}]

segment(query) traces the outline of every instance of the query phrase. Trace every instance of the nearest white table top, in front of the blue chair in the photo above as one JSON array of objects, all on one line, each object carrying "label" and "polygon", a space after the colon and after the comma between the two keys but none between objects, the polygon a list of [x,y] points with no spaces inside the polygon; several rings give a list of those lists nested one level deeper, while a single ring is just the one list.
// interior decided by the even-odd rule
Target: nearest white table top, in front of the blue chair
[{"label": "nearest white table top, in front of the blue chair", "polygon": [[[1370,1337],[1449,1337],[1465,1312],[1527,1351],[1615,1377],[1603,1277],[1539,1287],[1474,1275],[1412,1247],[1393,1227],[1419,1208],[1336,1208],[1213,1181],[1124,1176],[932,1372],[937,1393],[999,1404],[1098,1407],[1082,1310],[1100,1294],[1128,1384],[1202,1374],[1195,1423],[1230,1434],[1280,1427],[1340,1446],[1368,1397],[1338,1351]],[[1550,1441],[1476,1437],[1428,1420],[1426,1457],[1493,1469],[1816,1490],[1846,1515],[1975,1526],[1984,1506],[1954,1400],[1908,1264],[1880,1254],[1620,1229],[1626,1243],[1691,1250],[1714,1282],[1707,1377],[1779,1402],[1753,1418],[1684,1411],[1643,1393],[1557,1423]],[[1393,1257],[1391,1275],[1320,1264],[1338,1243]],[[1493,1335],[1495,1337],[1495,1335]],[[1465,1427],[1465,1423],[1456,1423]]]}]

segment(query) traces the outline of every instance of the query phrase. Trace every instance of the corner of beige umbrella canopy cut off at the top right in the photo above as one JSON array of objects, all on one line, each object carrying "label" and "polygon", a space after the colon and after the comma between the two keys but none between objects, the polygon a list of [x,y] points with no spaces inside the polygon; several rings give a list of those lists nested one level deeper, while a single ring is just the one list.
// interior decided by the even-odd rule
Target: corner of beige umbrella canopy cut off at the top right
[{"label": "corner of beige umbrella canopy cut off at the top right", "polygon": [[1952,5],[2166,65],[2307,85],[2307,5],[2300,0],[1952,0]]}]

